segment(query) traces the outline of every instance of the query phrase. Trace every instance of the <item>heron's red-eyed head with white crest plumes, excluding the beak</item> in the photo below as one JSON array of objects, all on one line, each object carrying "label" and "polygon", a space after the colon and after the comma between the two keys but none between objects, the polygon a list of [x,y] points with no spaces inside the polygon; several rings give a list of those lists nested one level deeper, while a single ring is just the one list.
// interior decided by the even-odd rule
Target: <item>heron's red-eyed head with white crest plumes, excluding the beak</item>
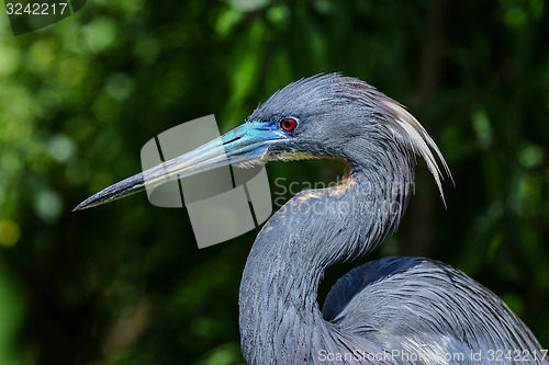
[{"label": "heron's red-eyed head with white crest plumes, excluding the beak", "polygon": [[[368,83],[339,73],[301,79],[277,91],[244,125],[261,140],[258,162],[305,158],[373,158],[386,146],[421,155],[442,194],[440,150],[401,104]],[[249,162],[248,162],[249,163]]]}]

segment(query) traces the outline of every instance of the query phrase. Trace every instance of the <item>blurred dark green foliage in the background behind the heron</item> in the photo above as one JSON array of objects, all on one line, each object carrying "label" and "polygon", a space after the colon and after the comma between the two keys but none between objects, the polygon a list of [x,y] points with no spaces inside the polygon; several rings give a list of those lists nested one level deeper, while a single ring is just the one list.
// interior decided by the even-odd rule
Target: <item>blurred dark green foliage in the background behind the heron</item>
[{"label": "blurred dark green foliage in the background behind the heron", "polygon": [[[445,210],[419,160],[400,230],[366,260],[459,267],[548,346],[548,14],[542,0],[96,0],[16,37],[4,18],[0,364],[242,363],[238,283],[257,230],[198,250],[186,212],[145,194],[70,210],[139,171],[158,133],[212,113],[225,132],[288,82],[332,71],[408,105],[456,181]],[[328,271],[322,293],[356,264]]]}]

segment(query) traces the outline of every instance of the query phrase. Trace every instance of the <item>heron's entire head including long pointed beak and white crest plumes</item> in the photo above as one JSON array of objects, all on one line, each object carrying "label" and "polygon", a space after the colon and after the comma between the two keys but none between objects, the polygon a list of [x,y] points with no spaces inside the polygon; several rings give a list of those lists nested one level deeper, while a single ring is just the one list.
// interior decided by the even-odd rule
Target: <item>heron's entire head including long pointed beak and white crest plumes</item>
[{"label": "heron's entire head including long pointed beak and white crest plumes", "polygon": [[109,186],[75,209],[143,191],[146,184],[154,187],[228,163],[248,166],[322,157],[352,160],[357,153],[367,155],[369,149],[376,150],[372,146],[386,141],[422,155],[441,192],[441,173],[432,149],[447,170],[446,162],[404,107],[358,79],[338,73],[314,76],[277,91],[246,123],[220,139]]}]

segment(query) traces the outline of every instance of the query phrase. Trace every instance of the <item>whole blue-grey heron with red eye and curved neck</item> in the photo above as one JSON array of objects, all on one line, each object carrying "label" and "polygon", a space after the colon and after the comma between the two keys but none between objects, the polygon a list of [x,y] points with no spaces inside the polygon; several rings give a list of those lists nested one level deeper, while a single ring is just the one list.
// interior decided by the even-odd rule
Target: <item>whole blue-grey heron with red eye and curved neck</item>
[{"label": "whole blue-grey heron with red eye and curved neck", "polygon": [[[366,263],[334,285],[320,310],[316,293],[325,270],[369,253],[396,229],[411,195],[414,153],[423,156],[442,194],[433,151],[449,175],[448,167],[397,102],[355,78],[315,76],[276,92],[222,141],[146,171],[148,183],[223,163],[306,158],[346,163],[337,185],[299,193],[257,236],[239,292],[246,362],[549,364],[529,329],[496,295],[429,259]],[[136,174],[76,209],[144,185],[143,174]]]}]

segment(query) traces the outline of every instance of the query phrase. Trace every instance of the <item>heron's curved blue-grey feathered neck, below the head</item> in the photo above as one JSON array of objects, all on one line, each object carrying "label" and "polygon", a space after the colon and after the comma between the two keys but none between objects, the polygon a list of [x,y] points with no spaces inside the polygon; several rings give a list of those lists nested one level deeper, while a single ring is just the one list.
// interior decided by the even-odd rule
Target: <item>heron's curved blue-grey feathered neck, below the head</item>
[{"label": "heron's curved blue-grey feathered neck, below the head", "polygon": [[330,189],[295,195],[259,232],[239,293],[242,347],[249,364],[314,363],[320,350],[343,346],[343,338],[374,351],[325,321],[316,294],[326,267],[367,254],[399,225],[413,164],[410,155],[394,160],[402,151],[384,152],[350,161],[347,176]]}]

